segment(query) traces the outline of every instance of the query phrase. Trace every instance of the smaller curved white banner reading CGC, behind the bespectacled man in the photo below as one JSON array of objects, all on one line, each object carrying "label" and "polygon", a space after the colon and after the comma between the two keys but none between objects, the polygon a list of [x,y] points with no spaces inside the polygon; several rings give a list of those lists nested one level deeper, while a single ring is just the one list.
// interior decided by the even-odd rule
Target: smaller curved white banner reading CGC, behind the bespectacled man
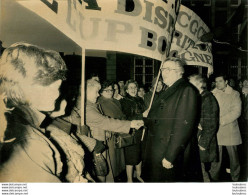
[{"label": "smaller curved white banner reading CGC, behind the bespectacled man", "polygon": [[183,58],[188,65],[208,67],[208,74],[211,74],[212,45],[200,41],[200,37],[207,32],[209,28],[202,19],[189,8],[181,5],[170,55]]}]

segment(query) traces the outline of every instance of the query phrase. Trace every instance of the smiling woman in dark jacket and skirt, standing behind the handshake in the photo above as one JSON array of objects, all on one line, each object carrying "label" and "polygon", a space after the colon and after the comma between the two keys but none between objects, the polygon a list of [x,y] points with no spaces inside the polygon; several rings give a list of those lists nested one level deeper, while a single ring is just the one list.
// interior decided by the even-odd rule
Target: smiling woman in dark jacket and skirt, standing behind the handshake
[{"label": "smiling woman in dark jacket and skirt, standing behind the handshake", "polygon": [[[123,113],[127,120],[141,120],[145,111],[145,103],[142,98],[137,96],[138,84],[134,80],[128,80],[125,84],[127,95],[120,100]],[[135,165],[137,179],[144,182],[141,175],[141,139],[144,130],[135,131],[135,144],[124,148],[126,172],[128,182],[133,181],[133,166]]]}]

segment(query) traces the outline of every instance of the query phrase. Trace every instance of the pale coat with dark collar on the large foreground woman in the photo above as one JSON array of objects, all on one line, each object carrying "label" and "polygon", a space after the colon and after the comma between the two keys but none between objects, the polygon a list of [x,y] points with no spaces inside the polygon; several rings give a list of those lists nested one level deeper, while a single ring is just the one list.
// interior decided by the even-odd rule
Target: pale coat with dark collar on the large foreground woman
[{"label": "pale coat with dark collar on the large foreground woman", "polygon": [[22,106],[15,108],[6,116],[8,121],[6,139],[15,140],[1,145],[0,181],[63,181],[61,154],[49,139],[49,132],[40,127],[45,115]]}]

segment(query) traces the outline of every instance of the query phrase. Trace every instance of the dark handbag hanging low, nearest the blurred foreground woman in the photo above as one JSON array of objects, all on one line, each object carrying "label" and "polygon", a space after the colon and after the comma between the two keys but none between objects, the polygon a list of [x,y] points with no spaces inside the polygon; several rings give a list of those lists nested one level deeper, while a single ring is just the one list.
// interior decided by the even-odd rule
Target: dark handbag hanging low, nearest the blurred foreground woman
[{"label": "dark handbag hanging low, nearest the blurred foreground woman", "polygon": [[93,152],[93,165],[96,176],[106,176],[108,174],[107,161],[102,153]]}]

